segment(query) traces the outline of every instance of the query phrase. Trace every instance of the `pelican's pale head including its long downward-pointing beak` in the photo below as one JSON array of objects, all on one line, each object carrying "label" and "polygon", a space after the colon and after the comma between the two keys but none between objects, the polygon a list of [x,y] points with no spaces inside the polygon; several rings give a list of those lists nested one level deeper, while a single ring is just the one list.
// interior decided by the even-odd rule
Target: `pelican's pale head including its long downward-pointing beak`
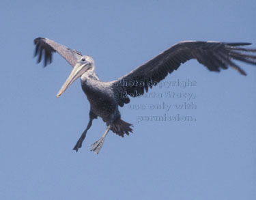
[{"label": "pelican's pale head including its long downward-pointing beak", "polygon": [[63,92],[74,82],[77,78],[82,76],[87,70],[94,70],[94,60],[88,55],[83,55],[79,58],[74,66],[70,76],[68,76],[66,82],[62,85],[57,94],[57,98],[63,94]]}]

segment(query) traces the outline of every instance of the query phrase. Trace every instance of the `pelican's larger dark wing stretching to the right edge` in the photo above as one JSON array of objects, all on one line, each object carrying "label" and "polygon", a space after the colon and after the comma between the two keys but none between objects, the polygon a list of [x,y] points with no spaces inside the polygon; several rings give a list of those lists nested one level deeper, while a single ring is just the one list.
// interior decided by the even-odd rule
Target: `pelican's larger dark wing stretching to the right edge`
[{"label": "pelican's larger dark wing stretching to the right edge", "polygon": [[144,91],[148,91],[148,87],[152,88],[154,83],[158,83],[168,73],[171,74],[173,70],[177,70],[181,63],[190,59],[197,59],[210,71],[219,72],[221,69],[231,67],[238,70],[240,74],[246,75],[244,70],[231,60],[236,59],[256,65],[256,55],[253,55],[256,49],[240,47],[250,44],[200,41],[177,43],[154,59],[112,82],[112,87],[119,94],[118,104],[124,106],[124,103],[130,102],[127,95],[136,97],[144,94]]}]

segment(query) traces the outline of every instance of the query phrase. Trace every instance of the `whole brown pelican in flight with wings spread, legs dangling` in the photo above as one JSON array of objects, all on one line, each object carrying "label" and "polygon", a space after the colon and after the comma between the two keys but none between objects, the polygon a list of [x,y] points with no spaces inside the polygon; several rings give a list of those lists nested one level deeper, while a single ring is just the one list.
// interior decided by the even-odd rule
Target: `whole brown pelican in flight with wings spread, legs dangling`
[{"label": "whole brown pelican in flight with wings spread, legs dangling", "polygon": [[167,74],[177,70],[181,63],[190,59],[197,59],[199,63],[210,71],[220,72],[221,69],[226,70],[231,67],[238,70],[242,75],[246,75],[246,73],[232,61],[233,59],[256,65],[256,49],[241,47],[251,43],[184,41],[171,46],[171,48],[121,78],[111,82],[104,82],[100,81],[94,72],[95,65],[92,57],[82,55],[79,51],[46,38],[36,38],[34,43],[35,56],[38,55],[38,63],[42,60],[43,53],[44,66],[51,63],[52,53],[57,51],[73,68],[70,76],[68,76],[59,90],[57,97],[61,96],[77,78],[81,77],[81,85],[91,107],[87,128],[73,149],[77,152],[82,147],[83,140],[87,130],[91,127],[92,121],[97,117],[101,117],[106,122],[107,127],[102,137],[91,145],[91,151],[96,152],[96,154],[100,152],[109,130],[121,137],[132,132],[132,124],[121,119],[118,106],[128,104],[130,102],[129,96],[141,96],[144,92],[147,92],[149,87],[152,88],[152,86],[156,85],[154,83],[158,83]]}]

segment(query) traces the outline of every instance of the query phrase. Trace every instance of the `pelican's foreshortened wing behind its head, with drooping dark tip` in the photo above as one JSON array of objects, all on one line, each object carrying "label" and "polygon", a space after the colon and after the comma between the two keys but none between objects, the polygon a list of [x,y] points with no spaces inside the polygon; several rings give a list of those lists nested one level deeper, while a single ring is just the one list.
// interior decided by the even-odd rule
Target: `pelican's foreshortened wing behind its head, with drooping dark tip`
[{"label": "pelican's foreshortened wing behind its head, with drooping dark tip", "polygon": [[53,40],[47,38],[36,38],[35,44],[35,57],[38,55],[38,63],[42,60],[42,55],[44,54],[44,67],[52,62],[53,52],[57,51],[70,65],[74,68],[76,61],[82,56],[79,51],[68,48]]}]

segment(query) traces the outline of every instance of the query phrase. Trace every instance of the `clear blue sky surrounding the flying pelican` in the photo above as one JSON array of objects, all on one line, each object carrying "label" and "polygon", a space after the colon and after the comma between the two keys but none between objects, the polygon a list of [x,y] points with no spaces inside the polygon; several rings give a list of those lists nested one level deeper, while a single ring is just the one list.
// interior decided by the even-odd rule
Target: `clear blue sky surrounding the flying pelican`
[{"label": "clear blue sky surrounding the flying pelican", "polygon": [[[47,68],[33,59],[33,39],[51,38],[94,57],[111,81],[182,40],[252,42],[255,1],[2,1],[0,97],[1,199],[255,199],[255,66],[208,72],[189,61],[165,79],[193,87],[155,87],[175,98],[135,98],[120,109],[129,137],[95,120],[83,148],[89,103],[80,81],[55,96],[72,68],[59,55]],[[169,82],[168,82],[169,81]],[[182,95],[182,98],[177,96]],[[187,94],[193,94],[188,100]],[[175,109],[193,103],[196,109]],[[150,109],[171,104],[171,109]],[[182,115],[193,122],[138,123]]]}]

